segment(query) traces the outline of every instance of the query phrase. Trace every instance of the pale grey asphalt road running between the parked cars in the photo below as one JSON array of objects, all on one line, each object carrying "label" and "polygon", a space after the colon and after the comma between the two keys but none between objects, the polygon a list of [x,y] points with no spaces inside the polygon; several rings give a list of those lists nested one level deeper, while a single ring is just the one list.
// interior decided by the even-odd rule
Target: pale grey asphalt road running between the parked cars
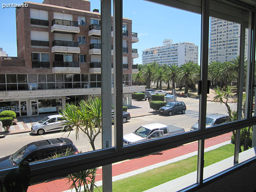
[{"label": "pale grey asphalt road running between the parked cars", "polygon": [[[155,113],[154,115],[135,117],[127,121],[123,124],[123,133],[128,134],[133,132],[136,128],[141,125],[151,124],[151,123],[162,123],[165,125],[175,125],[181,128],[184,128],[185,131],[189,131],[191,126],[198,121],[199,114],[199,100],[198,99],[190,99],[190,98],[179,98],[179,101],[184,101],[187,110],[185,114],[174,114],[173,116],[164,116]],[[230,104],[232,109],[236,109],[236,104]],[[225,105],[220,105],[219,103],[207,102],[207,113],[223,113],[227,114],[227,109]],[[23,134],[15,134],[15,135],[7,135],[5,138],[1,139],[0,143],[0,157],[7,156],[9,154],[13,154],[15,151],[23,147],[24,145],[38,141],[45,140],[50,138],[57,137],[68,137],[73,140],[76,147],[79,151],[87,152],[91,151],[92,148],[90,146],[89,140],[87,136],[84,135],[80,131],[79,140],[76,140],[75,131],[71,131],[70,135],[68,133],[59,133],[59,132],[49,132],[44,135],[36,135],[31,133],[23,133]],[[112,125],[112,146],[114,145],[114,126]],[[101,148],[101,134],[99,134],[95,140],[95,145],[97,149]]]}]

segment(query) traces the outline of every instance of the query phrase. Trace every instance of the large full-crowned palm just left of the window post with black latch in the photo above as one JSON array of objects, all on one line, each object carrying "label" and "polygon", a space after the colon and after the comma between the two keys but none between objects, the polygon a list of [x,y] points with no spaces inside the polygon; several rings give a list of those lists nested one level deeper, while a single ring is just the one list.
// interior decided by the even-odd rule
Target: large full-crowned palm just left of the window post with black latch
[{"label": "large full-crowned palm just left of the window post with black latch", "polygon": [[179,79],[180,82],[185,84],[185,93],[188,93],[189,83],[192,82],[192,74],[194,73],[194,63],[187,62],[180,65]]}]

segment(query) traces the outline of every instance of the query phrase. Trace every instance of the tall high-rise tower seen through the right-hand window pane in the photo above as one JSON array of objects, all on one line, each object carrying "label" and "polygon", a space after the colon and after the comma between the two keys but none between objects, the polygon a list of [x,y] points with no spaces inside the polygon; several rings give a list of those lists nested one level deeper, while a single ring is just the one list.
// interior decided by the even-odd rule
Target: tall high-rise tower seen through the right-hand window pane
[{"label": "tall high-rise tower seen through the right-hand window pane", "polygon": [[[247,57],[247,31],[245,35]],[[240,24],[210,17],[209,62],[232,61],[239,55]]]}]

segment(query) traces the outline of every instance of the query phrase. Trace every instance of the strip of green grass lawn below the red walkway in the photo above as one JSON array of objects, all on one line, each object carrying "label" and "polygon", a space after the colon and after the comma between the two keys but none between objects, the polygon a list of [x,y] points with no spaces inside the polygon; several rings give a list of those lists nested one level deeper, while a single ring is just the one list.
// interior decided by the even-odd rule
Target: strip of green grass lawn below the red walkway
[{"label": "strip of green grass lawn below the red walkway", "polygon": [[[227,159],[234,155],[234,145],[224,145],[205,153],[205,166]],[[113,192],[143,192],[197,170],[197,155],[171,163],[147,172],[117,180],[112,183]],[[98,191],[97,189],[95,189]],[[102,191],[102,186],[99,187]]]}]

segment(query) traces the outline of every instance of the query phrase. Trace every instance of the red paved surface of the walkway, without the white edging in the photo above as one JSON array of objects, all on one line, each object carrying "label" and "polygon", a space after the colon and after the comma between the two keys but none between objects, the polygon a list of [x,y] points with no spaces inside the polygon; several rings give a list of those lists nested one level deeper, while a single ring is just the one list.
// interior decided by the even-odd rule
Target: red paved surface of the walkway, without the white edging
[{"label": "red paved surface of the walkway, without the white edging", "polygon": [[[218,137],[213,137],[205,141],[205,148],[213,145],[229,141],[232,133],[227,133]],[[180,157],[184,154],[189,154],[198,150],[198,143],[190,143],[187,145],[182,145],[177,148],[172,148],[166,151],[162,151],[158,154],[148,155],[146,157],[141,157],[137,159],[132,159],[124,161],[119,164],[112,166],[112,175],[121,175],[127,172],[131,172],[137,169],[144,168],[146,166],[151,166],[156,163],[160,163],[166,160],[173,159],[175,157]],[[102,180],[102,169],[97,170],[96,181]],[[67,179],[59,179],[50,181],[47,183],[40,183],[34,186],[30,186],[28,192],[63,192],[66,191],[70,185],[66,184]]]}]

